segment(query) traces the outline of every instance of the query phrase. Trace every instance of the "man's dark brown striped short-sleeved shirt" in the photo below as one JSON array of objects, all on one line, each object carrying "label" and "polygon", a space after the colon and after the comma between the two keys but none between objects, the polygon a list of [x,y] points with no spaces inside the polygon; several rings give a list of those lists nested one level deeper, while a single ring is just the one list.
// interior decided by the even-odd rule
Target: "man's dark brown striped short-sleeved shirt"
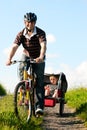
[{"label": "man's dark brown striped short-sleeved shirt", "polygon": [[34,59],[39,57],[41,49],[40,43],[46,41],[45,32],[40,28],[36,27],[36,34],[29,39],[23,35],[24,30],[25,28],[17,34],[14,44],[22,44],[24,49],[26,49],[27,52],[29,52],[29,56],[31,58]]}]

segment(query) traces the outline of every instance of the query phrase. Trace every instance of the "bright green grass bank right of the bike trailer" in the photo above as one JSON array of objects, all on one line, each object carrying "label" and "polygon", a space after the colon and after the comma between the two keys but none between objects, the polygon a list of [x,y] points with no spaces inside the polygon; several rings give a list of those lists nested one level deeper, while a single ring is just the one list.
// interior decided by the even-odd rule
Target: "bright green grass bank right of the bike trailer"
[{"label": "bright green grass bank right of the bike trailer", "polygon": [[87,126],[87,88],[77,88],[66,93],[69,106],[76,109],[76,115],[85,121]]}]

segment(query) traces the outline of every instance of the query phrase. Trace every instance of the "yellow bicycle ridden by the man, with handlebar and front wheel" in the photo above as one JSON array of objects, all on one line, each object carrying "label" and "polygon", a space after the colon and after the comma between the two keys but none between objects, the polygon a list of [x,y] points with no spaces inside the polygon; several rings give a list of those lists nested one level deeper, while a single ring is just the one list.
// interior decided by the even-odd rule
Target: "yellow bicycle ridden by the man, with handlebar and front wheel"
[{"label": "yellow bicycle ridden by the man, with handlebar and front wheel", "polygon": [[28,59],[30,62],[29,71],[27,71],[26,61],[13,61],[12,64],[21,62],[24,64],[23,80],[20,81],[14,90],[14,112],[18,119],[27,121],[31,116],[35,115],[35,83],[36,75],[33,71],[32,65],[36,62]]}]

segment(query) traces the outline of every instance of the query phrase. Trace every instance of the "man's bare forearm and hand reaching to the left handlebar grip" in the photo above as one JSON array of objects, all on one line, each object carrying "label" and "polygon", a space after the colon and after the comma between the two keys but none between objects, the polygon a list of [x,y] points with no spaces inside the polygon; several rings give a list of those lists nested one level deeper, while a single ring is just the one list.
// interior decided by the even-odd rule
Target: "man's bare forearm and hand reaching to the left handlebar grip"
[{"label": "man's bare forearm and hand reaching to the left handlebar grip", "polygon": [[18,45],[17,44],[13,44],[12,48],[11,48],[11,50],[9,52],[8,59],[6,61],[6,65],[10,65],[11,64],[12,57],[15,55],[15,52],[16,52],[17,49],[18,49]]}]

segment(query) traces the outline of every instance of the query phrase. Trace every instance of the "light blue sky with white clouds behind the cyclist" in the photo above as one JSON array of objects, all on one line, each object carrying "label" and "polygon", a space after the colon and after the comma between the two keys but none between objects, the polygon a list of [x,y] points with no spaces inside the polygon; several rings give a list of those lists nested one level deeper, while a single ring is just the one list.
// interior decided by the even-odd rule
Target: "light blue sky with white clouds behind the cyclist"
[{"label": "light blue sky with white clouds behind the cyclist", "polygon": [[[13,41],[24,28],[24,14],[37,15],[46,32],[45,73],[66,75],[68,88],[87,87],[87,0],[3,0],[0,2],[0,83],[14,92],[18,64],[6,66]],[[13,60],[20,59],[22,46]]]}]

